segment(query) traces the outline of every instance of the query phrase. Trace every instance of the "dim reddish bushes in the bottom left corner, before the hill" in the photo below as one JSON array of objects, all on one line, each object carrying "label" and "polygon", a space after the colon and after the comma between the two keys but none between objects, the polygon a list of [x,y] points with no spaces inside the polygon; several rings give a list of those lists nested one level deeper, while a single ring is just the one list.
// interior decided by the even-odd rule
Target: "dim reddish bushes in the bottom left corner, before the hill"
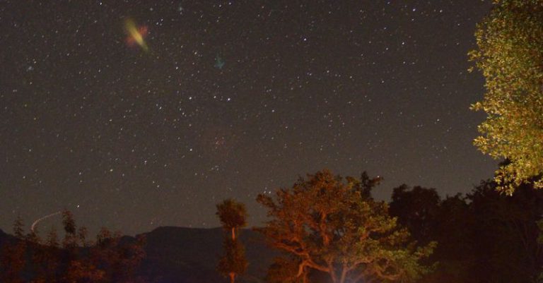
[{"label": "dim reddish bushes in the bottom left corner, before the hill", "polygon": [[97,241],[87,241],[86,229],[77,229],[71,212],[62,212],[64,238],[59,243],[52,229],[45,241],[37,229],[24,236],[22,222],[16,220],[16,241],[4,246],[1,279],[6,283],[134,283],[135,268],[144,258],[144,239],[120,241],[119,234],[100,231]]}]

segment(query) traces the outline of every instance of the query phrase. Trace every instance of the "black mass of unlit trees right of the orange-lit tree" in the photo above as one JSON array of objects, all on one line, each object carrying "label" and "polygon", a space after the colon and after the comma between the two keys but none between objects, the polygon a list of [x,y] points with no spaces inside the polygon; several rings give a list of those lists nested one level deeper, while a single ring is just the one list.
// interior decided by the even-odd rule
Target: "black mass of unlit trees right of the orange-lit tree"
[{"label": "black mass of unlit trees right of the orange-lit tree", "polygon": [[543,265],[537,241],[543,191],[524,184],[508,196],[496,186],[484,181],[465,196],[441,201],[433,189],[395,189],[390,207],[398,221],[416,241],[438,241],[431,260],[439,265],[421,282],[536,282]]}]

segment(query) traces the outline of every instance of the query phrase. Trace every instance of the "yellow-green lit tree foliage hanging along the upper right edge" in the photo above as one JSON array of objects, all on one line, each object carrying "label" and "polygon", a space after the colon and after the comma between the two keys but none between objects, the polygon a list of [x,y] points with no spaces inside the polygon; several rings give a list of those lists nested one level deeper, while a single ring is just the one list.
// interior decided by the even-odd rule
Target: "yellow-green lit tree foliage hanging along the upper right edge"
[{"label": "yellow-green lit tree foliage hanging along the upper right edge", "polygon": [[543,0],[494,0],[469,56],[486,79],[474,110],[486,112],[474,145],[496,159],[499,189],[510,194],[533,176],[543,188]]}]

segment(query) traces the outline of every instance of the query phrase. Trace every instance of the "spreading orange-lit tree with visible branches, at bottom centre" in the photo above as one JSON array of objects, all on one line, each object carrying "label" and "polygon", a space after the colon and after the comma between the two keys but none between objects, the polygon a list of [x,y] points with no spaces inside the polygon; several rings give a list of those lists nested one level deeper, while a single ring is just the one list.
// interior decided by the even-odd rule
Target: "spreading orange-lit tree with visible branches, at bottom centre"
[{"label": "spreading orange-lit tree with visible branches, at bottom centre", "polygon": [[354,178],[344,183],[329,171],[300,178],[292,188],[277,190],[275,198],[258,196],[271,217],[259,231],[272,247],[296,258],[296,277],[317,270],[334,283],[417,279],[429,270],[419,260],[434,243],[421,248],[408,243],[409,232],[388,215],[387,204],[363,194],[376,183],[365,187]]}]

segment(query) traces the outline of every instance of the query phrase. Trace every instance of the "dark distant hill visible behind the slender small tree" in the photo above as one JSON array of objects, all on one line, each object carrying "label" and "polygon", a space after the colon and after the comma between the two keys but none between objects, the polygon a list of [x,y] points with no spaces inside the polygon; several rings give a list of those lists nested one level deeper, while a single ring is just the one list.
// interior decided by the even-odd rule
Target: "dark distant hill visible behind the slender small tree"
[{"label": "dark distant hill visible behind the slender small tree", "polygon": [[[137,273],[153,283],[217,283],[228,282],[216,272],[222,253],[223,229],[158,227],[146,236],[146,258]],[[1,246],[15,237],[0,229]],[[122,241],[135,241],[123,236]],[[243,229],[240,240],[245,244],[249,267],[239,282],[264,282],[267,267],[275,255],[264,244],[262,235]]]}]

